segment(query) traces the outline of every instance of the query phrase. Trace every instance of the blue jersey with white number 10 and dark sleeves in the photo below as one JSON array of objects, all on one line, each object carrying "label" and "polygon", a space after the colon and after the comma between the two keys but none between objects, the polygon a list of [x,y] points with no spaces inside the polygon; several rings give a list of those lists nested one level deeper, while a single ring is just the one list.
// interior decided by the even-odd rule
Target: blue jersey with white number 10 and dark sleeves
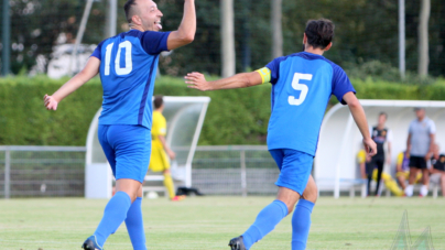
[{"label": "blue jersey with white number 10 and dark sleeves", "polygon": [[139,124],[151,129],[159,54],[167,51],[169,34],[131,30],[97,46],[91,56],[100,59],[104,88],[99,124]]}]

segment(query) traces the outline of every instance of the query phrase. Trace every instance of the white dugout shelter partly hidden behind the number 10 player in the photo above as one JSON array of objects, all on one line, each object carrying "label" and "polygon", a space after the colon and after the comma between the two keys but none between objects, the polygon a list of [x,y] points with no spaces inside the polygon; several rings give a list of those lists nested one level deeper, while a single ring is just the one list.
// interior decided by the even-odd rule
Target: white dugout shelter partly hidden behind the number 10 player
[{"label": "white dugout shelter partly hidden behind the number 10 player", "polygon": [[[163,115],[167,121],[166,141],[176,153],[172,177],[184,186],[192,186],[192,161],[207,112],[209,97],[164,98]],[[101,108],[89,126],[86,144],[85,197],[110,198],[112,172],[98,140]]]}]

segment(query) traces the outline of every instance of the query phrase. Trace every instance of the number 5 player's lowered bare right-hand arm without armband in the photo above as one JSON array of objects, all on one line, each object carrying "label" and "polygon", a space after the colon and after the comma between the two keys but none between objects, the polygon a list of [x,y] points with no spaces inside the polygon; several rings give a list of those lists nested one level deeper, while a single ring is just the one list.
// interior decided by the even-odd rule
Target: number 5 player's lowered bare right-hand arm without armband
[{"label": "number 5 player's lowered bare right-hand arm without armband", "polygon": [[350,113],[356,121],[358,129],[360,130],[361,135],[363,137],[363,145],[368,155],[373,156],[377,153],[376,142],[372,140],[369,133],[368,121],[366,119],[365,110],[358,101],[356,95],[354,93],[347,93],[343,96],[343,99],[348,104]]}]

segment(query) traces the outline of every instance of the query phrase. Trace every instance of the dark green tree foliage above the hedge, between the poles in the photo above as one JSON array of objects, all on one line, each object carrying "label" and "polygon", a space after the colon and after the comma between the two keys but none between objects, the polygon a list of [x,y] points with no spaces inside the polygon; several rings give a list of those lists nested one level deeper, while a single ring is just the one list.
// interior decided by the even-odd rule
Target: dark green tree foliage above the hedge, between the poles
[{"label": "dark green tree foliage above the hedge, between the poles", "polygon": [[[73,42],[85,8],[85,0],[10,0],[11,65],[17,74],[30,68],[39,54],[50,58],[57,36],[64,32]],[[126,31],[123,4],[119,0],[118,32]],[[183,1],[156,0],[163,12],[165,31],[176,30],[183,15]],[[272,59],[271,0],[235,2],[237,72],[256,69]],[[431,0],[430,73],[445,75],[445,2]],[[219,1],[199,0],[195,42],[161,59],[162,74],[180,76],[191,70],[220,74]],[[417,25],[421,0],[406,1],[406,68],[417,68]],[[107,1],[95,1],[84,43],[104,40]],[[284,54],[301,51],[308,19],[328,18],[336,23],[334,47],[326,54],[340,66],[355,67],[370,61],[398,66],[398,0],[293,0],[283,1]]]}]

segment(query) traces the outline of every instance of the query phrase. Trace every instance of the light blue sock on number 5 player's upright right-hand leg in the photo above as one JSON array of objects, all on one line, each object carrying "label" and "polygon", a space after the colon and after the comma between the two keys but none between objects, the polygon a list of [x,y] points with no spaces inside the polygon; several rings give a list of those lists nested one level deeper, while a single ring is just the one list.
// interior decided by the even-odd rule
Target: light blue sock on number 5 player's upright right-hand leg
[{"label": "light blue sock on number 5 player's upright right-hand leg", "polygon": [[311,229],[311,214],[314,203],[300,199],[292,216],[292,250],[306,249]]}]

